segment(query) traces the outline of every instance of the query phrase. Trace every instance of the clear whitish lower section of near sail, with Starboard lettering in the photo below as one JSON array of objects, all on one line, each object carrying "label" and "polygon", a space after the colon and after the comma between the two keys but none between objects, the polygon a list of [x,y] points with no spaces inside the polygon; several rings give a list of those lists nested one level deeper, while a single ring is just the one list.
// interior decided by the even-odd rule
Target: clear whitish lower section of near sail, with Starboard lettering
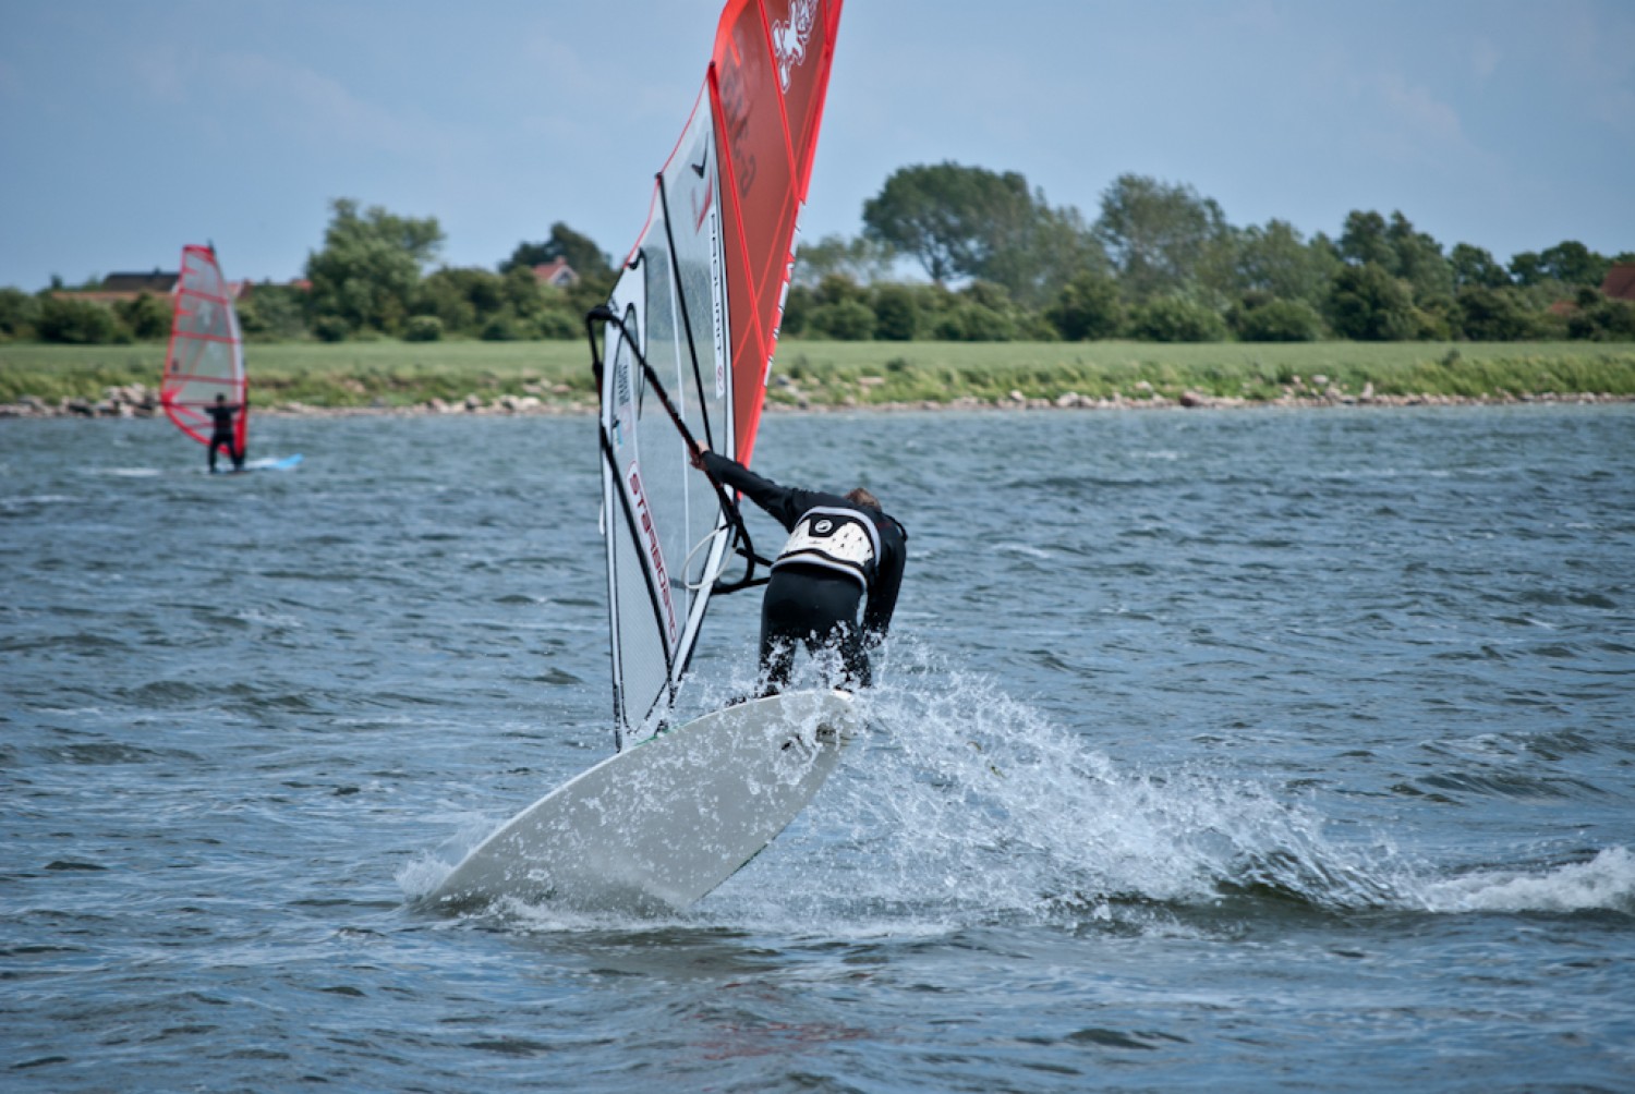
[{"label": "clear whitish lower section of near sail, with Starboard lettering", "polygon": [[726,518],[692,471],[685,440],[734,451],[719,172],[703,93],[659,172],[647,226],[608,307],[603,512],[623,738],[674,695],[726,554]]}]

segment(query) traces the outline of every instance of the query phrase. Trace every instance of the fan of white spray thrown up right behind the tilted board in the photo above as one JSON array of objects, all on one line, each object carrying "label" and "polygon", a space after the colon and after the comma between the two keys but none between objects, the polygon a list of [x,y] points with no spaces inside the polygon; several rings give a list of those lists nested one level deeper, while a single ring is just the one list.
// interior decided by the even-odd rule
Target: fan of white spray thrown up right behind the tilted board
[{"label": "fan of white spray thrown up right behind the tilted board", "polygon": [[1396,906],[1385,839],[1226,765],[1120,767],[992,680],[924,649],[863,693],[870,726],[796,826],[698,912],[943,927],[1117,917],[1261,898]]}]

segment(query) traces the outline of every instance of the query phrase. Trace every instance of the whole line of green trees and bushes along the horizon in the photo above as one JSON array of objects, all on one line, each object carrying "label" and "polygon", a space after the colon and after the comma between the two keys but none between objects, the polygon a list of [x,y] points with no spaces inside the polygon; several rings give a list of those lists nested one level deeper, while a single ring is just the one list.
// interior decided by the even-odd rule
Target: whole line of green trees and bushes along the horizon
[{"label": "whole line of green trees and bushes along the horizon", "polygon": [[[306,286],[257,285],[245,335],[576,339],[616,270],[564,222],[495,268],[437,265],[435,217],[332,203]],[[543,285],[562,258],[579,283]],[[840,340],[1149,342],[1635,340],[1635,304],[1601,293],[1614,263],[1576,240],[1498,262],[1444,247],[1400,211],[1347,214],[1337,237],[1285,221],[1236,227],[1192,186],[1122,175],[1099,214],[1051,206],[1015,172],[904,167],[863,204],[863,231],[803,244],[783,330]],[[917,267],[921,276],[907,271]],[[0,339],[131,342],[168,334],[168,304],[0,289]],[[95,288],[95,286],[83,286]]]}]

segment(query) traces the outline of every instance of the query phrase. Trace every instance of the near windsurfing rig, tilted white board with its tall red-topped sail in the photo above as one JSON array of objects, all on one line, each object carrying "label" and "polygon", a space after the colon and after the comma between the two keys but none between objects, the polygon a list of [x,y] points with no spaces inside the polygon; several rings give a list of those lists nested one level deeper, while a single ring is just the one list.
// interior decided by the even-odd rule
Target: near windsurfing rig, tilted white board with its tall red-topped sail
[{"label": "near windsurfing rig, tilted white board with its tall red-topped sail", "polygon": [[710,597],[757,584],[765,563],[736,500],[688,456],[708,445],[750,460],[839,20],[840,0],[721,13],[647,222],[587,319],[618,752],[476,847],[433,903],[683,908],[783,831],[853,733],[853,700],[829,690],[667,728]]}]

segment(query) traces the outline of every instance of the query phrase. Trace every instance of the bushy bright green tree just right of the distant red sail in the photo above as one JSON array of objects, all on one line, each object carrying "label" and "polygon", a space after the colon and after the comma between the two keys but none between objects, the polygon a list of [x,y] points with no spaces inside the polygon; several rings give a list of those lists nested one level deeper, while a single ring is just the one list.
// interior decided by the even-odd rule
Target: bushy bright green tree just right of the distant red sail
[{"label": "bushy bright green tree just right of the distant red sail", "polygon": [[312,314],[340,321],[350,332],[396,334],[420,275],[443,245],[443,229],[437,217],[401,217],[381,206],[360,216],[350,198],[337,198],[330,208],[324,250],[307,255]]}]

